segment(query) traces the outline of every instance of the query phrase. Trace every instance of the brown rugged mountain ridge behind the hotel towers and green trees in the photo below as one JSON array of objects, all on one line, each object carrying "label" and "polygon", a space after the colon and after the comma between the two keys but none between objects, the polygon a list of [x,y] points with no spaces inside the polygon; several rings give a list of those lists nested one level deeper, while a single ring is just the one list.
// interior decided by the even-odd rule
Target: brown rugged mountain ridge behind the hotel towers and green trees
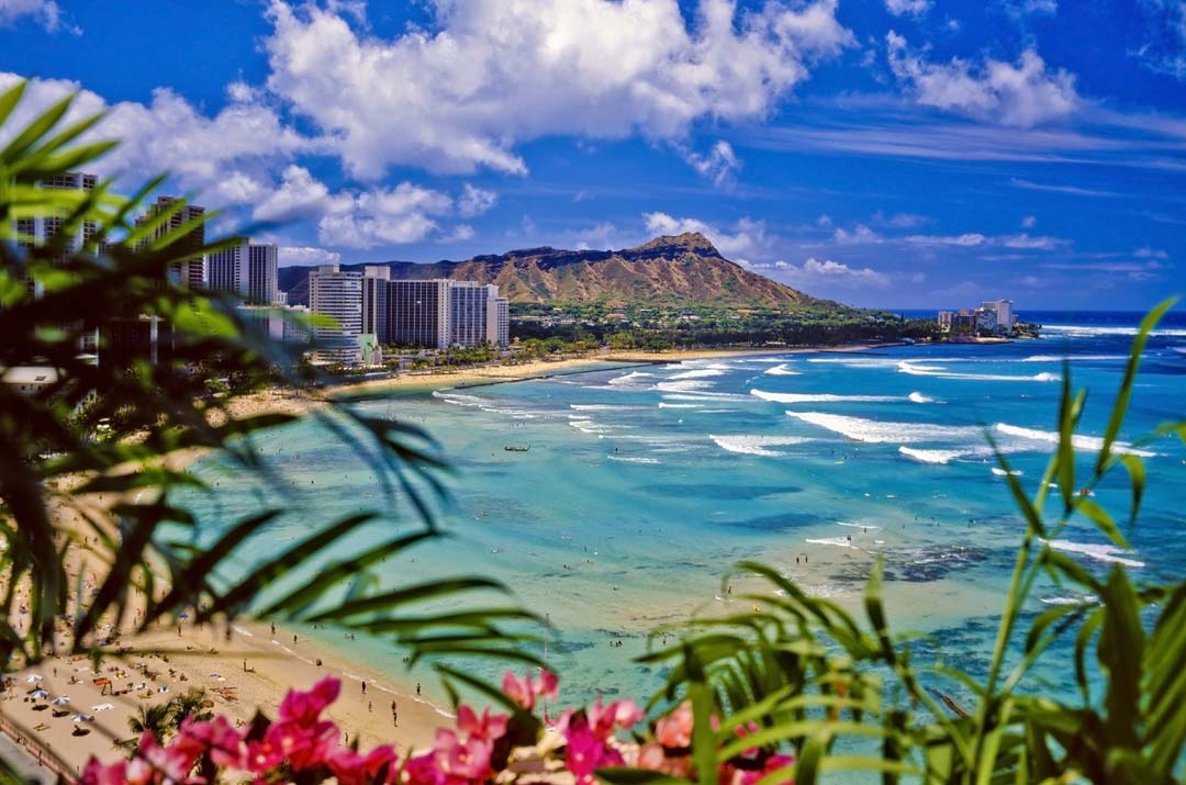
[{"label": "brown rugged mountain ridge behind the hotel towers and green trees", "polygon": [[[651,301],[664,305],[792,307],[824,304],[797,289],[732,262],[699,232],[663,235],[620,250],[566,250],[543,245],[465,261],[343,264],[388,267],[393,279],[433,279],[496,283],[516,304]],[[280,268],[288,302],[308,302],[311,267]]]}]

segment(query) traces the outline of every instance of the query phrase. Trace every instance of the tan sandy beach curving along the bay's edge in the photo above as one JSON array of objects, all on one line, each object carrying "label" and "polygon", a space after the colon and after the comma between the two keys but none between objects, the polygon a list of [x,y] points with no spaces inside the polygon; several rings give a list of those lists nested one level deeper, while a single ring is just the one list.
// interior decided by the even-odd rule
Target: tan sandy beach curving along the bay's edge
[{"label": "tan sandy beach curving along the bay's edge", "polygon": [[[885,344],[610,352],[595,358],[538,360],[460,372],[372,379],[327,387],[321,395],[314,396],[306,396],[294,390],[273,389],[236,400],[232,413],[236,416],[278,410],[304,414],[323,406],[323,397],[351,401],[401,392],[465,389],[640,364],[664,365],[714,357],[863,351],[880,346]],[[181,470],[204,454],[204,449],[197,448],[180,451],[170,455],[167,464],[172,468]],[[98,499],[74,497],[74,500],[83,508],[104,506],[102,496]],[[84,531],[81,528],[78,511],[71,509],[63,499],[53,500],[52,512],[63,529]],[[74,575],[85,577],[88,553],[85,548],[75,545]],[[94,559],[93,555],[90,557]],[[694,608],[688,611],[693,612]],[[293,636],[295,642],[289,644],[288,640]],[[401,678],[394,672],[395,668],[384,668],[376,663],[374,655],[352,655],[349,651],[349,642],[333,643],[325,640],[324,636],[318,639],[302,627],[278,625],[273,634],[268,623],[257,620],[240,619],[230,627],[223,628],[198,628],[183,623],[176,627],[161,626],[140,636],[133,636],[128,630],[120,643],[123,646],[132,646],[132,651],[125,658],[116,658],[115,652],[111,652],[113,656],[107,658],[102,666],[102,675],[111,678],[121,691],[126,688],[135,689],[127,690],[125,695],[104,696],[103,690],[93,683],[98,674],[87,672],[90,678],[82,678],[84,672],[82,669],[88,668],[84,660],[50,658],[37,668],[14,674],[17,688],[7,691],[0,701],[4,726],[13,726],[19,735],[32,739],[38,746],[44,747],[50,753],[47,757],[60,757],[70,767],[78,770],[93,754],[101,760],[113,760],[123,754],[113,747],[110,739],[127,739],[132,735],[128,729],[129,717],[135,716],[142,707],[165,702],[168,697],[192,687],[206,689],[208,697],[213,701],[212,711],[225,714],[232,722],[247,723],[257,708],[274,713],[288,689],[308,689],[318,678],[334,675],[342,679],[343,694],[327,714],[339,723],[351,740],[358,738],[363,747],[390,742],[401,752],[429,746],[435,730],[447,726],[452,717],[445,707],[433,703],[429,698],[431,691],[436,687],[435,681],[425,685],[428,688],[427,691],[421,690],[422,694],[417,695],[417,684],[410,674],[406,679]],[[395,656],[394,647],[391,651]],[[69,716],[53,717],[47,709],[34,713],[33,702],[20,700],[31,691],[28,689],[31,684],[27,684],[25,678],[34,674],[44,679],[36,687],[44,687],[50,697],[66,695],[71,698],[71,706],[68,708],[72,711],[94,713],[94,722],[84,728],[89,733],[76,735],[75,723],[70,722]],[[68,676],[71,677],[70,681]],[[363,682],[368,684],[365,696],[362,693]],[[161,691],[164,689],[168,691]],[[389,716],[391,701],[398,707],[397,726]],[[101,713],[93,711],[94,707],[104,704],[110,708]]]}]

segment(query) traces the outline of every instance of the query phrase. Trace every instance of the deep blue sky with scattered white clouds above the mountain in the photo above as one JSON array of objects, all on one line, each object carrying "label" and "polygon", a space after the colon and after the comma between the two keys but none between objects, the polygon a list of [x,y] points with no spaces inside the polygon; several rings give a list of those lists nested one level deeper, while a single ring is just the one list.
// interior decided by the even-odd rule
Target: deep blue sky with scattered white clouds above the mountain
[{"label": "deep blue sky with scattered white clouds above the mountain", "polygon": [[1182,0],[0,0],[18,78],[281,263],[695,230],[865,306],[1186,289]]}]

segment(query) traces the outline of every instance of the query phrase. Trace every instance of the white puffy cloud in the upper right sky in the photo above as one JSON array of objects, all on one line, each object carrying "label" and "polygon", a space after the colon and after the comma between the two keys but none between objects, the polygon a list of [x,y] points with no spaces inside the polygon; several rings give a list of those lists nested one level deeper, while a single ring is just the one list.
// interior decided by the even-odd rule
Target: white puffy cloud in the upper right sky
[{"label": "white puffy cloud in the upper right sky", "polygon": [[978,69],[958,57],[931,63],[907,47],[898,33],[886,33],[890,70],[919,103],[1005,126],[1029,128],[1071,115],[1082,103],[1075,76],[1048,70],[1033,49],[1018,63],[986,59]]}]

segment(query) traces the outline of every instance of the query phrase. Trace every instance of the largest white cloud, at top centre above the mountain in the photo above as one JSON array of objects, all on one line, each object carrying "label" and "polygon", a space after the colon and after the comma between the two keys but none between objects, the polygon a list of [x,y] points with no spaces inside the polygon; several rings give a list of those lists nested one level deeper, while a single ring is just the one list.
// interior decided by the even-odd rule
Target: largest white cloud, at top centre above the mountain
[{"label": "largest white cloud, at top centre above the mountain", "polygon": [[390,39],[312,4],[268,7],[268,88],[357,178],[396,164],[523,173],[516,146],[542,136],[678,140],[697,120],[761,117],[853,42],[837,0],[701,0],[690,26],[676,0],[432,5],[432,31]]}]

